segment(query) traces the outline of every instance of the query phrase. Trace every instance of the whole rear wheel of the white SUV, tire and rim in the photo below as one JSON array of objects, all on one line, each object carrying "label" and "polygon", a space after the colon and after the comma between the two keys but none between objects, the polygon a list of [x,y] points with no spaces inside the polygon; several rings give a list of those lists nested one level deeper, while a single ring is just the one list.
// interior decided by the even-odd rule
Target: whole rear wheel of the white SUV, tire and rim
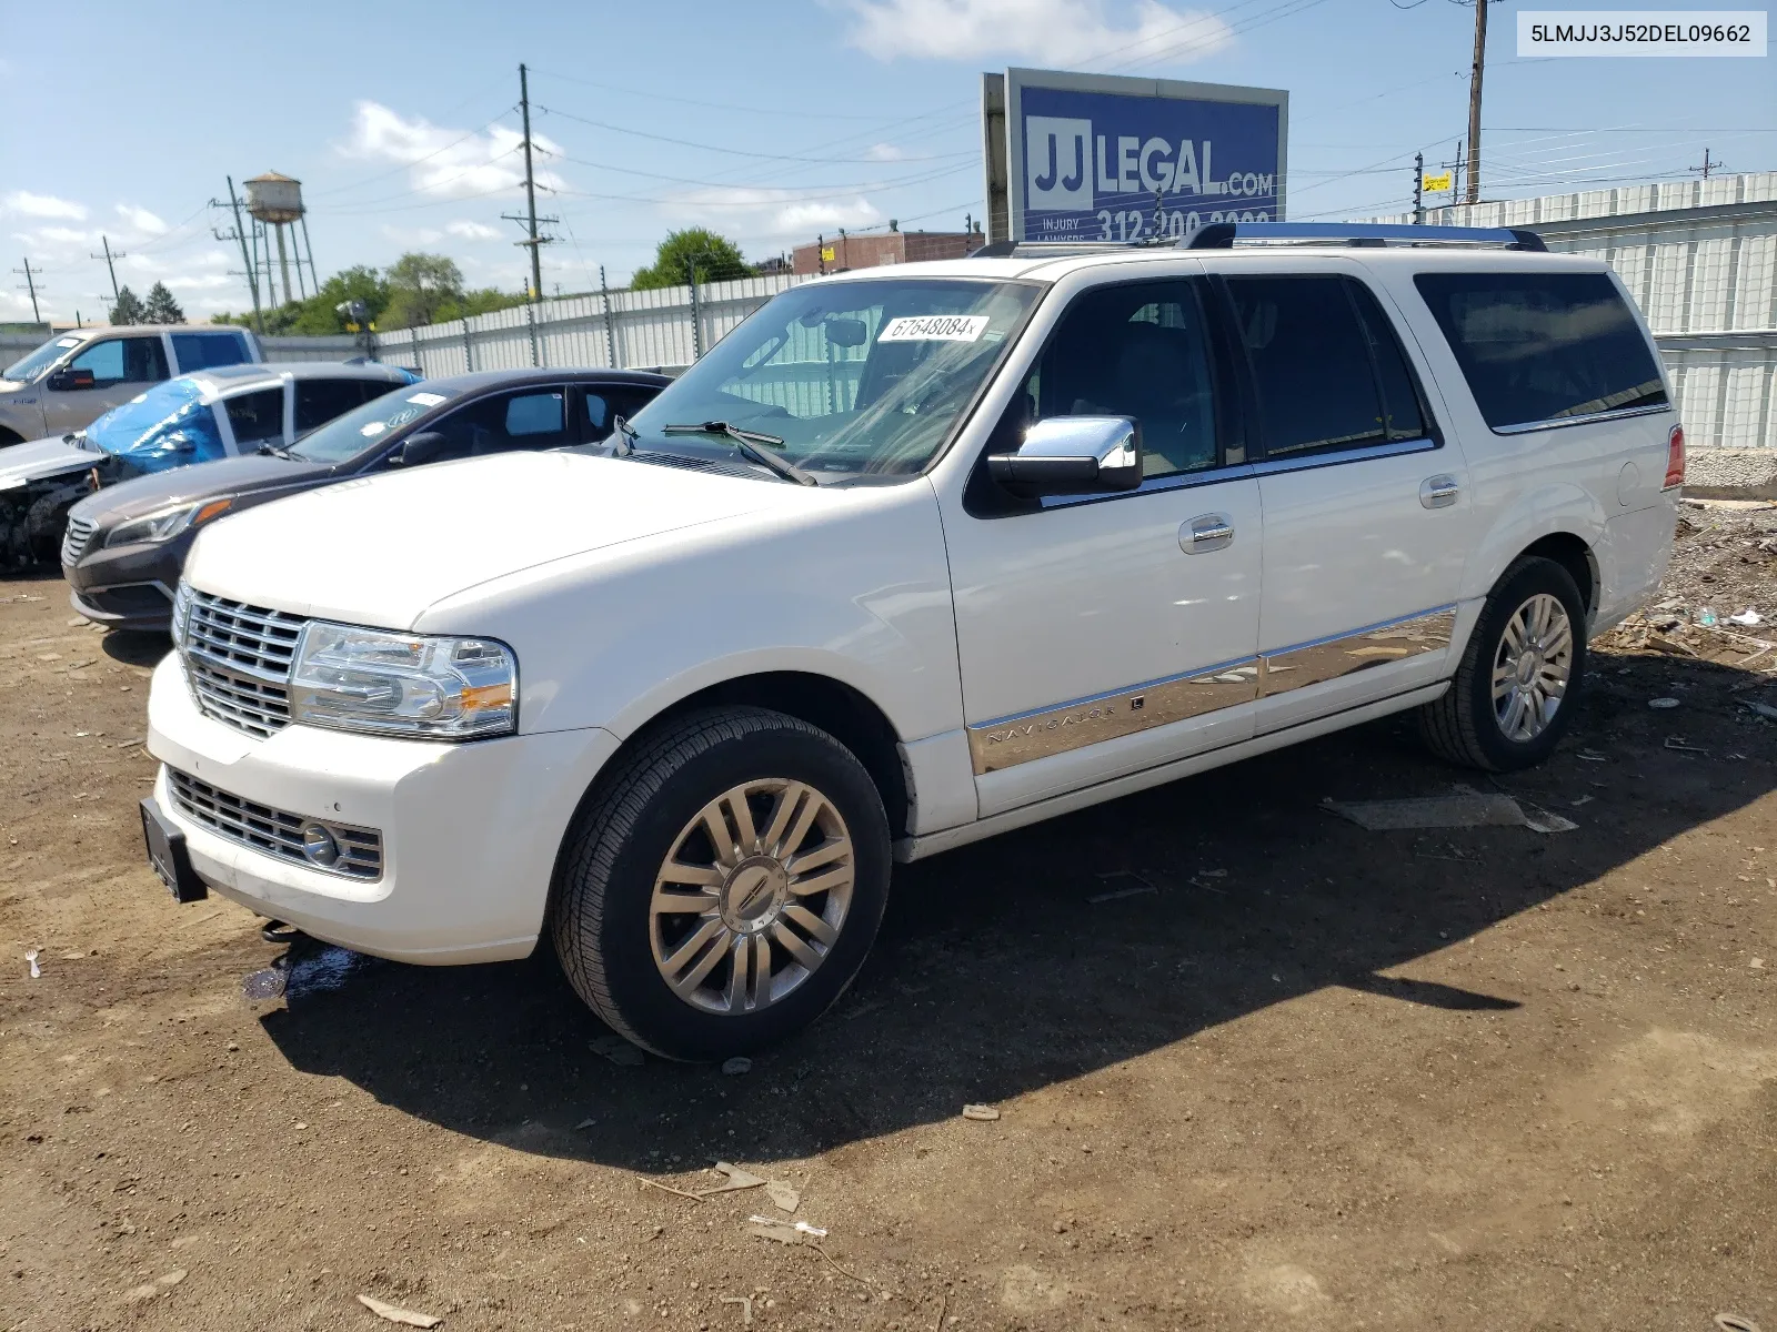
[{"label": "whole rear wheel of the white SUV, tire and rim", "polygon": [[1585,602],[1573,574],[1519,559],[1487,597],[1448,693],[1420,709],[1420,737],[1464,767],[1541,764],[1573,721],[1583,673]]}]

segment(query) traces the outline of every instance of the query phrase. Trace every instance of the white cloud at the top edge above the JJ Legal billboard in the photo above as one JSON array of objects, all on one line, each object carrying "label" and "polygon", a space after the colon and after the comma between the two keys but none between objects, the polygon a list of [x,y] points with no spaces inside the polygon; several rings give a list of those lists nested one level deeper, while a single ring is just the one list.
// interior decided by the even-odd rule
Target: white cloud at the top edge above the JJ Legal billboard
[{"label": "white cloud at the top edge above the JJ Legal billboard", "polygon": [[1201,9],[1136,0],[1112,12],[1107,0],[844,0],[857,18],[849,41],[880,60],[899,55],[977,60],[988,55],[1080,67],[1185,64],[1233,41],[1228,25]]}]

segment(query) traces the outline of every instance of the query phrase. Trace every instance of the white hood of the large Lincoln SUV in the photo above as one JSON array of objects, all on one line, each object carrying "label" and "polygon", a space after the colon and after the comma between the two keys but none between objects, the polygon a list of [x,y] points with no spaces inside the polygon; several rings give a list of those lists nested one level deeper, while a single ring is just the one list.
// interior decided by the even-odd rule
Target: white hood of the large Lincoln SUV
[{"label": "white hood of the large Lincoln SUV", "polygon": [[583,453],[505,453],[355,478],[206,527],[185,574],[291,614],[407,629],[480,583],[832,494]]}]

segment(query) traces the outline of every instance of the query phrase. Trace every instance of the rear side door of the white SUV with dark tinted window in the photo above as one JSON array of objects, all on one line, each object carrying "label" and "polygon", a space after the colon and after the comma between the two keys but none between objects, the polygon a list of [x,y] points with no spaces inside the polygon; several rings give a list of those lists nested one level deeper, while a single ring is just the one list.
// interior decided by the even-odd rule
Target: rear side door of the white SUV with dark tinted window
[{"label": "rear side door of the white SUV with dark tinted window", "polygon": [[1473,508],[1393,321],[1338,270],[1226,289],[1263,444],[1260,730],[1443,678]]}]

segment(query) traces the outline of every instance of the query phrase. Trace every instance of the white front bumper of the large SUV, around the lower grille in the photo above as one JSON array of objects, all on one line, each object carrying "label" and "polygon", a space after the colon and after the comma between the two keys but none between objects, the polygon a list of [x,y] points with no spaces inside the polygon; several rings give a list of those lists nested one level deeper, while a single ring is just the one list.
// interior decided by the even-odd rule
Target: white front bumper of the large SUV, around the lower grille
[{"label": "white front bumper of the large SUV, around the lower grille", "polygon": [[[286,726],[243,735],[197,710],[178,654],[155,668],[155,799],[211,890],[327,943],[403,963],[489,963],[537,945],[556,851],[617,751],[606,730],[444,744]],[[293,863],[188,817],[176,767],[243,801],[382,835],[382,876]]]}]

